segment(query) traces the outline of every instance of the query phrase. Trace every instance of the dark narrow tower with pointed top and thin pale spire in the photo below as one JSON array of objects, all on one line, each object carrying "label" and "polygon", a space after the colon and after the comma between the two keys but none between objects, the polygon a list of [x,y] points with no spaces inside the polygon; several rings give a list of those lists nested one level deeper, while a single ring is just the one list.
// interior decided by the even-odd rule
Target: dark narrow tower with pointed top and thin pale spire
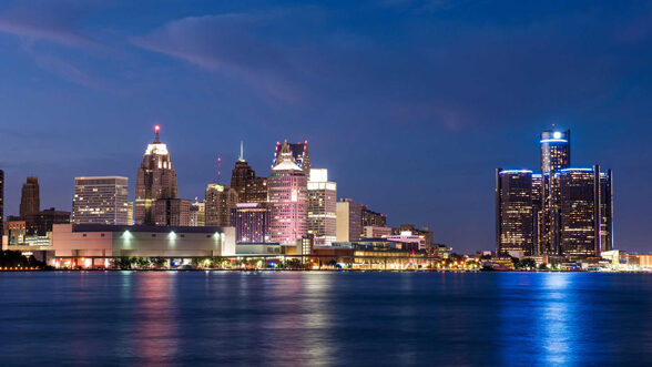
[{"label": "dark narrow tower with pointed top and thin pale spire", "polygon": [[267,202],[267,179],[256,177],[256,172],[244,159],[242,142],[240,157],[231,172],[231,188],[237,193],[238,203]]}]

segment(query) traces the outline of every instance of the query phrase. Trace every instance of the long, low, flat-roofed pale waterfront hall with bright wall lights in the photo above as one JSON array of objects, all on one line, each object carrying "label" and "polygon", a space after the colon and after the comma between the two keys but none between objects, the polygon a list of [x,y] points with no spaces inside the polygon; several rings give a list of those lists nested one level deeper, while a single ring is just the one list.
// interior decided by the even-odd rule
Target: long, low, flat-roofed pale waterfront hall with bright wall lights
[{"label": "long, low, flat-roofed pale waterfront hall with bright wall lights", "polygon": [[61,224],[52,247],[55,256],[234,256],[235,236],[230,227]]}]

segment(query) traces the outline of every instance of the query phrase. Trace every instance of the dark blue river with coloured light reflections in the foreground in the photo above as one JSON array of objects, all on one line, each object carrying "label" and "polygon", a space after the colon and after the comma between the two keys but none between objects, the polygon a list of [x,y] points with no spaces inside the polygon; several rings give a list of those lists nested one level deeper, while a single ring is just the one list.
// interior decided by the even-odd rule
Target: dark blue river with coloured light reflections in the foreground
[{"label": "dark blue river with coloured light reflections in the foreground", "polygon": [[652,275],[2,273],[1,365],[652,364]]}]

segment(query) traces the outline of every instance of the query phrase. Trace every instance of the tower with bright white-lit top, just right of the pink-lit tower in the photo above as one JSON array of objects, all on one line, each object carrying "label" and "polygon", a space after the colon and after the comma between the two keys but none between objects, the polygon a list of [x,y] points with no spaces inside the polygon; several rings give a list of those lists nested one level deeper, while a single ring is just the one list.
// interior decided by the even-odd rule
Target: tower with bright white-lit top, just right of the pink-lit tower
[{"label": "tower with bright white-lit top, just right of the pink-lit tower", "polygon": [[337,184],[328,181],[328,170],[310,170],[308,179],[308,234],[316,245],[336,241]]}]

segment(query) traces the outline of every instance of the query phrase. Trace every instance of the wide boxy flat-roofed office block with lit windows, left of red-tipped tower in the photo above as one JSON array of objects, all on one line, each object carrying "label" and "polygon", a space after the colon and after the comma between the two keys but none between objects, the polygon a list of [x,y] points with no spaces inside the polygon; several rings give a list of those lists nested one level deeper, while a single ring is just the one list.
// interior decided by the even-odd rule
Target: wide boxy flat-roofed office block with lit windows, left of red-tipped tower
[{"label": "wide boxy flat-roofed office block with lit windows, left of red-tipped tower", "polygon": [[131,224],[128,192],[128,177],[75,177],[72,222],[74,224]]}]

